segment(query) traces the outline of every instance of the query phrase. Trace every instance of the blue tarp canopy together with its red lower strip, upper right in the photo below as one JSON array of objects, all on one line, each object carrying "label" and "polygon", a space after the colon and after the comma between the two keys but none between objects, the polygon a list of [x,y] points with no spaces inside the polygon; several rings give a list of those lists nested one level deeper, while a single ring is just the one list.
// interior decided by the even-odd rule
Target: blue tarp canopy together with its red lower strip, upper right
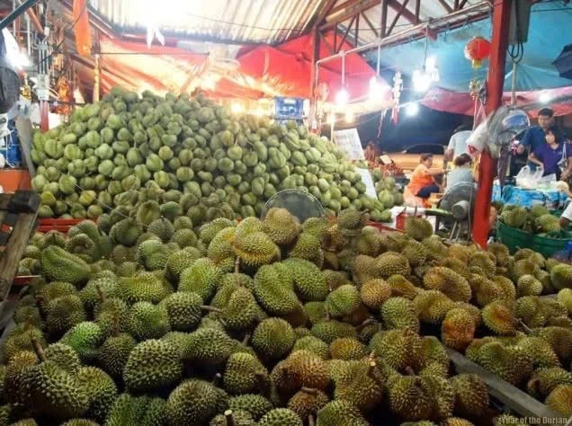
[{"label": "blue tarp canopy together with its red lower strip, upper right", "polygon": [[[572,112],[572,81],[559,75],[553,62],[570,42],[572,8],[559,2],[532,5],[528,41],[523,44],[524,54],[516,73],[516,94],[519,104],[537,109],[540,96],[550,99],[558,114]],[[491,21],[470,22],[460,28],[441,32],[436,40],[429,40],[427,56],[434,56],[441,75],[439,87],[425,95],[425,105],[439,110],[472,115],[473,102],[469,96],[469,82],[475,76],[487,77],[487,62],[477,71],[463,51],[467,42],[476,35],[490,40]],[[425,39],[414,40],[381,50],[381,61],[391,69],[406,75],[413,74],[422,65]],[[368,56],[376,60],[376,52]],[[505,68],[505,101],[510,102],[513,64],[507,58]]]}]

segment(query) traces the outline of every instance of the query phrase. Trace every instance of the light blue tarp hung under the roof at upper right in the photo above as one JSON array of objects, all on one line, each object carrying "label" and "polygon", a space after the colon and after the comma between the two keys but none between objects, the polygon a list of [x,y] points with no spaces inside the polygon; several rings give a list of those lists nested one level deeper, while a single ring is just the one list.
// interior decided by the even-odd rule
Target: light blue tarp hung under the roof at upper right
[{"label": "light blue tarp hung under the roof at upper right", "polygon": [[[443,31],[437,40],[429,40],[427,56],[436,58],[441,74],[439,86],[455,92],[468,92],[469,81],[475,76],[470,61],[464,57],[467,42],[475,35],[490,40],[491,20],[479,22],[451,30]],[[528,41],[524,43],[524,56],[517,72],[517,91],[533,91],[572,85],[570,80],[559,76],[552,65],[560,52],[572,42],[572,4],[561,1],[538,3],[532,6]],[[381,62],[392,69],[411,75],[422,65],[425,40],[414,40],[395,47],[381,49]],[[368,56],[372,63],[376,61],[377,51]],[[487,63],[481,67],[477,76],[486,77]],[[505,69],[505,90],[511,90],[512,63],[507,58]]]}]

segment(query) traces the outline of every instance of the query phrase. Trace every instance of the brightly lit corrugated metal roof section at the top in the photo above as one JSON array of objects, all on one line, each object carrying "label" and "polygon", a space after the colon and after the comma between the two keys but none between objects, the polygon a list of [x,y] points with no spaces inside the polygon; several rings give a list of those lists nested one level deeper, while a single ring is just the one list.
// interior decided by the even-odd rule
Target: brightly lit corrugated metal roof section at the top
[{"label": "brightly lit corrugated metal roof section at the top", "polygon": [[90,0],[121,31],[236,43],[277,44],[307,31],[326,0]]}]

